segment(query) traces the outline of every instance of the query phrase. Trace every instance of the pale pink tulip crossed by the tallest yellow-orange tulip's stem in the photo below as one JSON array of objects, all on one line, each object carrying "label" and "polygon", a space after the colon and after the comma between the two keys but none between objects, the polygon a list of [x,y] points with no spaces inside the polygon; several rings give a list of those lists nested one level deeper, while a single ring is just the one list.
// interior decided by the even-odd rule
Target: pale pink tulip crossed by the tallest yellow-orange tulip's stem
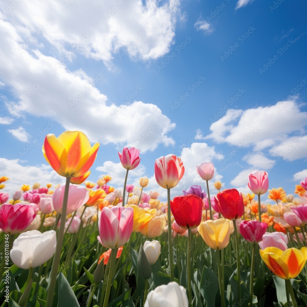
[{"label": "pale pink tulip crossed by the tallest yellow-orange tulip's stem", "polygon": [[[52,194],[53,208],[58,214],[62,212],[64,190],[65,184],[59,185]],[[82,187],[80,185],[69,185],[66,214],[68,215],[72,212],[75,212],[87,202],[88,198],[89,196],[85,187]]]}]

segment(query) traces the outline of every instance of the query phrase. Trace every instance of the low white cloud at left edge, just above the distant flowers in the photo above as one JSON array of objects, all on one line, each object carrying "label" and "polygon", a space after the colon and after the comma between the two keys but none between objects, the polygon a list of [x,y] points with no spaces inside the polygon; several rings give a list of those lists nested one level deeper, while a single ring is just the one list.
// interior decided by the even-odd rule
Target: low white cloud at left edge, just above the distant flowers
[{"label": "low white cloud at left edge, just above the distant flowers", "polygon": [[[7,192],[10,197],[16,190],[19,190],[23,184],[28,184],[30,187],[35,182],[40,183],[42,186],[46,186],[47,183],[57,185],[64,183],[63,177],[58,175],[49,165],[24,165],[19,159],[6,159],[0,158],[1,176],[7,176],[9,181],[5,182],[5,188],[2,192]],[[51,188],[52,189],[52,188]]]}]

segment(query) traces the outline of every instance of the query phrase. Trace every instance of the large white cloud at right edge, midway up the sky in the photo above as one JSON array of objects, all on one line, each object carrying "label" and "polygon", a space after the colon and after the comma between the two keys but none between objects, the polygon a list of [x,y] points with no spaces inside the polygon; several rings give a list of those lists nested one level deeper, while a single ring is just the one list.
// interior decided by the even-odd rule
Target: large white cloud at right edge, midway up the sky
[{"label": "large white cloud at right edge, midway up the sky", "polygon": [[[255,146],[255,150],[262,150],[274,146],[270,153],[293,161],[306,157],[307,136],[289,136],[289,134],[305,134],[307,112],[300,110],[300,106],[293,100],[278,102],[270,107],[255,109],[227,110],[226,114],[212,123],[211,134],[206,138],[213,138],[216,142],[227,142],[238,147]],[[283,150],[289,146],[295,150],[284,154]],[[292,145],[291,145],[292,144]]]}]

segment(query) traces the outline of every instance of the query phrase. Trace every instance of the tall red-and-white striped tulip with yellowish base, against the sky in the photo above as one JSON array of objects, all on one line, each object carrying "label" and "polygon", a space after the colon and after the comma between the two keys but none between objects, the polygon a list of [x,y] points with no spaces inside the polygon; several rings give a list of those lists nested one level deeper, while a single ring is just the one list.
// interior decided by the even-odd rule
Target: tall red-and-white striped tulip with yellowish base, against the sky
[{"label": "tall red-and-white striped tulip with yellowish base, against the sky", "polygon": [[180,158],[174,154],[160,157],[154,164],[154,174],[158,185],[162,188],[174,188],[185,173]]}]

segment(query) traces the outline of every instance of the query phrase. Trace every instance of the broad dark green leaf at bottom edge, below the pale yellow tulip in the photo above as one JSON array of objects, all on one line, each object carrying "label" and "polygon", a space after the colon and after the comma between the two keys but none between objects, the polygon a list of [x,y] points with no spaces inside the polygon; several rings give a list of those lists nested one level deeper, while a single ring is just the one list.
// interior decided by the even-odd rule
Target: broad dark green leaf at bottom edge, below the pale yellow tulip
[{"label": "broad dark green leaf at bottom edge, below the pale yellow tulip", "polygon": [[200,278],[200,293],[207,302],[207,306],[215,306],[215,297],[219,289],[219,279],[211,268],[204,266]]}]

